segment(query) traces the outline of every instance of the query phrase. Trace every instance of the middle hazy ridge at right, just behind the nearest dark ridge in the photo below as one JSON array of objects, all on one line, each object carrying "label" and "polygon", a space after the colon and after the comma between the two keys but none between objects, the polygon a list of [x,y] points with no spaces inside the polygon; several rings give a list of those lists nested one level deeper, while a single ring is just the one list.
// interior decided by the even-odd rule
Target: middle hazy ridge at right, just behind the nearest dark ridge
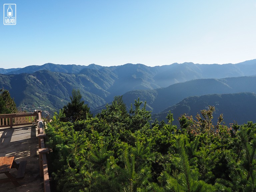
[{"label": "middle hazy ridge at right, just behind the nearest dark ridge", "polygon": [[147,101],[149,110],[159,113],[189,96],[239,92],[256,92],[256,77],[196,79],[166,88],[130,91],[123,95],[123,100],[127,106],[130,106],[134,103],[134,99],[139,97],[141,101]]}]

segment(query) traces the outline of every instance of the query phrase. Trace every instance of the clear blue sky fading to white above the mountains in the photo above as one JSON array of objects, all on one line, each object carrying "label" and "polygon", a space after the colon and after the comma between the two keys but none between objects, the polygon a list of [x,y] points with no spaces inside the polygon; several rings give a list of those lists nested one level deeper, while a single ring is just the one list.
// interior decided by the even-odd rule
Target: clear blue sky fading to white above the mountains
[{"label": "clear blue sky fading to white above the mountains", "polygon": [[[1,0],[0,68],[256,59],[256,0]],[[3,5],[16,4],[16,25]]]}]

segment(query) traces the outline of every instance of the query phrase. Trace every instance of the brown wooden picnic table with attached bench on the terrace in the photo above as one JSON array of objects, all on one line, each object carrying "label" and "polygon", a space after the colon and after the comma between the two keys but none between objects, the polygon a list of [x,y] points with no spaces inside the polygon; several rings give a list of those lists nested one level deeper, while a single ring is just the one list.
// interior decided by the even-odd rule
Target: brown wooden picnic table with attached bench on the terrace
[{"label": "brown wooden picnic table with attached bench on the terrace", "polygon": [[0,183],[12,182],[15,187],[18,187],[20,184],[10,173],[11,168],[18,169],[18,164],[14,161],[14,157],[0,157],[0,174],[4,173],[8,177],[6,179],[1,179]]}]

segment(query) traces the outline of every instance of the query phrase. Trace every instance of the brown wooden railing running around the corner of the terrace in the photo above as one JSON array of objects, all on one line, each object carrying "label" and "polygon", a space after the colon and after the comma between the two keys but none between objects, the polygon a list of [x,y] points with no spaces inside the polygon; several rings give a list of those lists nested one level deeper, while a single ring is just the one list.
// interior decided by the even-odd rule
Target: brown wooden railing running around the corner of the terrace
[{"label": "brown wooden railing running around the corner of the terrace", "polygon": [[46,153],[48,153],[48,148],[45,147],[44,138],[46,134],[44,129],[46,128],[46,123],[43,122],[41,118],[42,111],[35,110],[31,113],[14,113],[14,114],[3,114],[0,115],[0,128],[19,126],[19,125],[37,125],[38,129],[38,141],[39,141],[39,164],[40,164],[40,176],[44,177],[44,192],[50,192],[50,182],[47,166]]}]

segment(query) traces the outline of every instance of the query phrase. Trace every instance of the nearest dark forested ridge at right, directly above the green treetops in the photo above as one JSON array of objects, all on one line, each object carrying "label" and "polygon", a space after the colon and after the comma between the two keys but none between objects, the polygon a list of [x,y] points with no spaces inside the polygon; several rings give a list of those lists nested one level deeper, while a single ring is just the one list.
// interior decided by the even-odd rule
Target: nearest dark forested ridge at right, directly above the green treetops
[{"label": "nearest dark forested ridge at right, directly above the green treetops", "polygon": [[203,96],[193,96],[183,99],[181,102],[168,107],[164,111],[153,114],[152,119],[166,121],[169,111],[173,113],[174,124],[179,125],[178,118],[186,113],[192,115],[194,119],[200,110],[207,109],[211,105],[216,111],[213,114],[213,122],[216,124],[219,115],[222,113],[227,126],[237,121],[238,124],[247,123],[247,121],[256,122],[256,94],[254,93],[234,93],[234,94],[212,94]]}]

